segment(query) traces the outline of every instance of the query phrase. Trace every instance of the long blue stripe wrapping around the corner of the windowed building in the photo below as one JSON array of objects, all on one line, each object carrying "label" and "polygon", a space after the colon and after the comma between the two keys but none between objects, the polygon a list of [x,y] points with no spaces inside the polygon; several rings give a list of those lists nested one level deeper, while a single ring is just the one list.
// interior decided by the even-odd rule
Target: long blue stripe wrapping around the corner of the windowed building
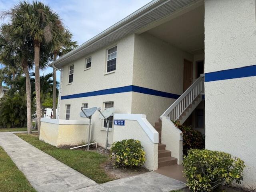
[{"label": "long blue stripe wrapping around the corner of the windowed building", "polygon": [[92,91],[92,92],[86,92],[86,93],[78,93],[78,94],[73,94],[73,95],[61,96],[61,99],[90,97],[90,96],[124,93],[124,92],[131,92],[131,91],[149,94],[149,95],[161,96],[161,97],[166,97],[166,98],[172,98],[172,99],[177,99],[180,96],[180,95],[172,94],[172,93],[168,93],[168,92],[139,87],[139,86],[135,86],[135,85],[129,85],[129,86],[124,86],[124,87],[117,87],[117,88],[110,88],[110,89],[104,89],[104,90],[98,90],[98,91]]}]

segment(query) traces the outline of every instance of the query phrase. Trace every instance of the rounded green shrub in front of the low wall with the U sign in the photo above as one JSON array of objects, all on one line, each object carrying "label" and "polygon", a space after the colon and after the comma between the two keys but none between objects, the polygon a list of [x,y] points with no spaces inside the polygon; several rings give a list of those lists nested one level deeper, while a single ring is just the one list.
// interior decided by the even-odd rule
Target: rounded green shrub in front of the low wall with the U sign
[{"label": "rounded green shrub in front of the low wall with the U sign", "polygon": [[145,154],[140,141],[134,139],[114,142],[110,149],[115,167],[140,167],[146,161]]}]

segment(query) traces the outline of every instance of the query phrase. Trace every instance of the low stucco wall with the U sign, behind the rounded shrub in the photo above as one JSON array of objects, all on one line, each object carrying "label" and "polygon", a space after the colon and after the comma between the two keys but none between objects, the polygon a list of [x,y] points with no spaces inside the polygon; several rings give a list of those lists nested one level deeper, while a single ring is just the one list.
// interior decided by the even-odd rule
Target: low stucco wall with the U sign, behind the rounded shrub
[{"label": "low stucco wall with the U sign, behind the rounded shrub", "polygon": [[153,143],[136,120],[125,120],[125,126],[114,126],[113,142],[123,139],[140,140],[146,152],[144,166],[148,170],[158,168],[158,143]]}]

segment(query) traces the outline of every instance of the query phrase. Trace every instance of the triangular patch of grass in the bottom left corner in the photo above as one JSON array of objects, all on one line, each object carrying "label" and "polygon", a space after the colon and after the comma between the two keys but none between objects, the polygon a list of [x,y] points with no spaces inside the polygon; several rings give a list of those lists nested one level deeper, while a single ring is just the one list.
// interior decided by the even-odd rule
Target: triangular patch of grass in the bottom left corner
[{"label": "triangular patch of grass in the bottom left corner", "polygon": [[0,147],[0,191],[36,192],[2,147]]}]

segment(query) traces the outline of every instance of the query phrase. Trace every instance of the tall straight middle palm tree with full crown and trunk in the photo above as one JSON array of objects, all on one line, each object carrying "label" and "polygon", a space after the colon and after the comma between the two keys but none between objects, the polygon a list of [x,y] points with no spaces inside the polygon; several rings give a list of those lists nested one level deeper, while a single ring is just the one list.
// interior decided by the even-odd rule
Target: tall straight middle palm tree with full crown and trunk
[{"label": "tall straight middle palm tree with full crown and trunk", "polygon": [[[32,40],[32,47],[34,48],[34,64],[35,64],[35,86],[36,86],[36,113],[37,126],[40,133],[40,49],[47,44],[60,44],[60,36],[63,33],[62,22],[51,8],[41,2],[34,1],[20,2],[10,12],[10,20],[12,22],[11,33],[14,36],[28,36]],[[22,39],[17,39],[22,42]],[[24,43],[24,42],[23,42]]]}]

